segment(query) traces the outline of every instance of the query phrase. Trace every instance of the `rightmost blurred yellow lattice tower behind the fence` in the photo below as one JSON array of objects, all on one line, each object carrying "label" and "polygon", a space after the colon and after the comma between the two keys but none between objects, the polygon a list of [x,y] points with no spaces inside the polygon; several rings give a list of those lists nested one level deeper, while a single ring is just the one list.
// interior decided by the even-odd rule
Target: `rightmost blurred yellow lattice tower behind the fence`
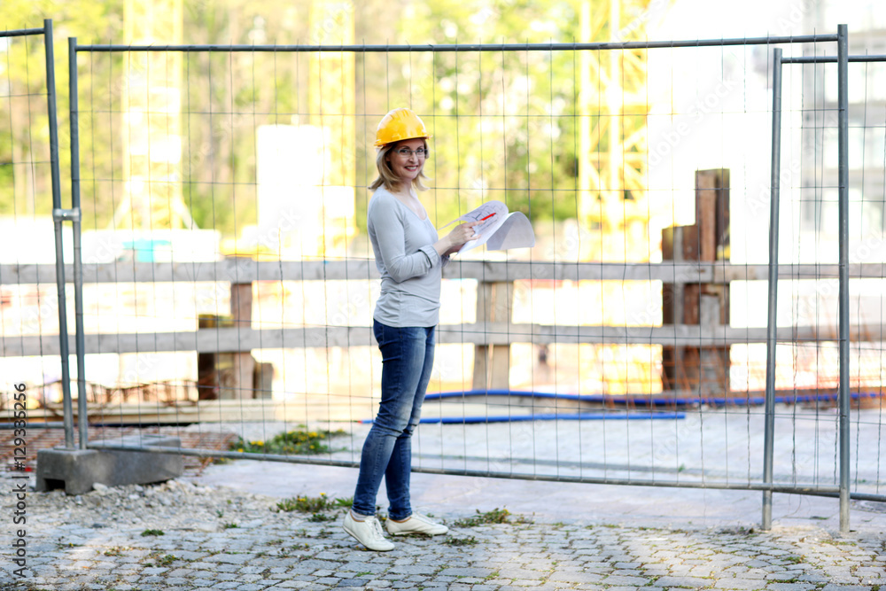
[{"label": "rightmost blurred yellow lattice tower behind the fence", "polygon": [[[581,0],[581,41],[645,40],[650,4]],[[599,238],[581,256],[648,261],[646,51],[582,51],[579,66],[579,222]]]}]

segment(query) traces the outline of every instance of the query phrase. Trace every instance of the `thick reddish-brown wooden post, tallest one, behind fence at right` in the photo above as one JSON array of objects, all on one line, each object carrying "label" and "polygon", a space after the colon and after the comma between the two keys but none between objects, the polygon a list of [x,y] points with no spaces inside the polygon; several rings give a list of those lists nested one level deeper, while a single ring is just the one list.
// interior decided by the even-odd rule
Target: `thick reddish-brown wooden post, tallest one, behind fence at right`
[{"label": "thick reddish-brown wooden post, tallest one, behind fence at right", "polygon": [[[665,261],[729,260],[729,171],[696,171],[696,223],[662,230]],[[678,266],[679,268],[679,266]],[[663,323],[716,327],[729,323],[729,287],[717,284],[664,284]],[[729,346],[662,347],[665,391],[727,395]]]}]

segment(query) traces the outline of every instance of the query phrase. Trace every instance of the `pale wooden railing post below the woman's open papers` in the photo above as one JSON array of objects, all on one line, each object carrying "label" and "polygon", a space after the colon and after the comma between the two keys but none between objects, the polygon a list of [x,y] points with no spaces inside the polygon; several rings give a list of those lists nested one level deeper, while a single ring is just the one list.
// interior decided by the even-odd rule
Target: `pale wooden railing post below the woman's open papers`
[{"label": "pale wooden railing post below the woman's open papers", "polygon": [[[514,285],[508,282],[477,285],[477,322],[510,323]],[[474,390],[509,390],[510,346],[474,346]]]}]

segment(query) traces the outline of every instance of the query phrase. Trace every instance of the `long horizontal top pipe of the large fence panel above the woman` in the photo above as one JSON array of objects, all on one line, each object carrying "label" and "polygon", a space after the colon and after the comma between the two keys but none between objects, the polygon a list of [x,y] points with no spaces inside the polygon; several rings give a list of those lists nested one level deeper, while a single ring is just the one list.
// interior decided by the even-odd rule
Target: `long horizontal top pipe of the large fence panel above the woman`
[{"label": "long horizontal top pipe of the large fence panel above the woman", "polygon": [[81,45],[77,51],[332,51],[332,52],[452,52],[452,51],[597,51],[649,50],[729,45],[772,45],[773,43],[835,42],[837,35],[797,35],[734,39],[688,39],[682,41],[631,41],[601,43],[467,43],[464,45]]}]

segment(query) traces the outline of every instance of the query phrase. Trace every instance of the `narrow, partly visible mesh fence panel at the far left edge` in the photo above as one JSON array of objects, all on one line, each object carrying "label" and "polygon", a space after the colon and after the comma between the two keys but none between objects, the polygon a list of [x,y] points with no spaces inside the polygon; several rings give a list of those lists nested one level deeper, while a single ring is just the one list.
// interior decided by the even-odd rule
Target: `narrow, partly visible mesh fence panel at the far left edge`
[{"label": "narrow, partly visible mesh fence panel at the far left edge", "polygon": [[10,470],[33,469],[33,448],[22,439],[28,413],[60,422],[67,377],[58,340],[66,309],[53,266],[58,240],[70,244],[72,236],[57,232],[52,216],[59,183],[51,31],[50,20],[0,31],[0,407],[15,428],[4,454]]}]

